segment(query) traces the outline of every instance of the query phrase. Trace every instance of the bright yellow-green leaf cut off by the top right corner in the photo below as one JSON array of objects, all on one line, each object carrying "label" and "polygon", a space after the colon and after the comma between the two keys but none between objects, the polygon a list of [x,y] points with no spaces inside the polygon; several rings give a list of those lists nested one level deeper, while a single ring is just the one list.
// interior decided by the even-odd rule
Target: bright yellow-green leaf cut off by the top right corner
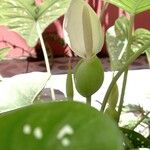
[{"label": "bright yellow-green leaf cut off by the top right corner", "polygon": [[146,10],[150,10],[149,0],[106,0],[106,1],[134,15]]}]

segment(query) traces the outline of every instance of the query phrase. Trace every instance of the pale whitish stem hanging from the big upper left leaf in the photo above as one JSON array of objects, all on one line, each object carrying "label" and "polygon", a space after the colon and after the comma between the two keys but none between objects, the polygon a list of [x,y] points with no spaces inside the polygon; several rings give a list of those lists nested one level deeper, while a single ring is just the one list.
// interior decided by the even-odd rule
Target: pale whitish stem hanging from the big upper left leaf
[{"label": "pale whitish stem hanging from the big upper left leaf", "polygon": [[[43,55],[44,55],[44,60],[45,60],[45,64],[46,64],[46,70],[47,70],[47,73],[51,76],[52,74],[51,74],[49,59],[48,59],[46,47],[45,47],[45,44],[44,44],[44,40],[43,40],[43,37],[42,37],[40,25],[39,25],[38,22],[36,23],[36,29],[37,29],[37,33],[38,33],[38,36],[39,36],[39,39],[40,39],[40,43],[41,43]],[[55,98],[54,89],[51,87],[50,90],[51,90],[51,97],[52,97],[52,100],[55,100],[56,98]]]}]

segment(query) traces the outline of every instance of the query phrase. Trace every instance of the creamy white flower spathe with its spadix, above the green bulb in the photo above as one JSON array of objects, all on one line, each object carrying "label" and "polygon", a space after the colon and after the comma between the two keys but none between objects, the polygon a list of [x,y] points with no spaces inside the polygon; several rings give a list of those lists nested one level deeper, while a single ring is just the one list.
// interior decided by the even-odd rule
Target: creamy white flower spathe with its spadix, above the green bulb
[{"label": "creamy white flower spathe with its spadix, above the green bulb", "polygon": [[65,15],[64,37],[75,54],[90,58],[100,52],[104,36],[100,20],[84,0],[72,0]]}]

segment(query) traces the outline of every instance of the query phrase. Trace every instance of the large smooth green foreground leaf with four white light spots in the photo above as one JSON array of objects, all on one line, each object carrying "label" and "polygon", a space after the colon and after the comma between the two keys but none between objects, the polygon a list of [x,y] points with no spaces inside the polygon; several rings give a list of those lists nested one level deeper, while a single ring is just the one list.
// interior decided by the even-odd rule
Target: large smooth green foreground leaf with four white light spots
[{"label": "large smooth green foreground leaf with four white light spots", "polygon": [[0,122],[2,150],[123,150],[114,122],[82,103],[34,104],[2,114]]}]

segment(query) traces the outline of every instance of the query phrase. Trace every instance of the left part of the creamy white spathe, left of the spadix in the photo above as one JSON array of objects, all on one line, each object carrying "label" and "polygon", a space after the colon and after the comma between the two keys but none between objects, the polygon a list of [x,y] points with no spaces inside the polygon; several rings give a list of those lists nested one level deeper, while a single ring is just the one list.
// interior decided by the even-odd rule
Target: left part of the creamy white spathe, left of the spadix
[{"label": "left part of the creamy white spathe, left of the spadix", "polygon": [[64,18],[64,36],[66,43],[80,57],[85,57],[83,38],[82,11],[84,3],[81,0],[72,0]]}]

